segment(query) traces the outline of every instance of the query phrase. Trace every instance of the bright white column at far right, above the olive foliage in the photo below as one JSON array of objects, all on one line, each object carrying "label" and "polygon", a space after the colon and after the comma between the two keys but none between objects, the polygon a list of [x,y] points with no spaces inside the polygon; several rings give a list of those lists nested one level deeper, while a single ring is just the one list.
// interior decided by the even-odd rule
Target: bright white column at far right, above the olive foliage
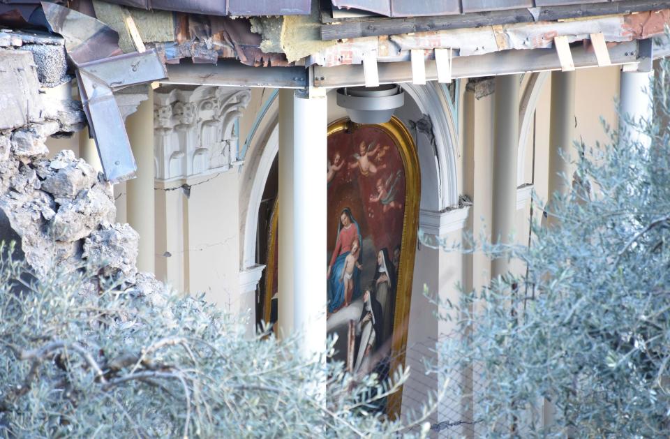
[{"label": "bright white column at far right, above the olive foliage", "polygon": [[619,84],[619,111],[622,119],[619,121],[620,131],[627,131],[624,137],[632,142],[642,142],[648,145],[650,140],[627,120],[638,123],[648,121],[652,117],[653,96],[651,94],[654,71],[649,72],[621,72]]}]

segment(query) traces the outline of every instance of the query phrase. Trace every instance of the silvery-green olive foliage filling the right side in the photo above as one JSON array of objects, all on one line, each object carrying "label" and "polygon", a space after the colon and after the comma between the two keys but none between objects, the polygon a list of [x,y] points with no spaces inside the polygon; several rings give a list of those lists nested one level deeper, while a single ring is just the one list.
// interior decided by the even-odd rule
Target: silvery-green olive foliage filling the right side
[{"label": "silvery-green olive foliage filling the right side", "polygon": [[559,225],[533,223],[530,248],[467,246],[527,267],[463,292],[459,337],[440,345],[447,373],[480,374],[486,436],[670,434],[669,72],[663,61],[652,121],[577,147],[572,193],[546,208]]}]

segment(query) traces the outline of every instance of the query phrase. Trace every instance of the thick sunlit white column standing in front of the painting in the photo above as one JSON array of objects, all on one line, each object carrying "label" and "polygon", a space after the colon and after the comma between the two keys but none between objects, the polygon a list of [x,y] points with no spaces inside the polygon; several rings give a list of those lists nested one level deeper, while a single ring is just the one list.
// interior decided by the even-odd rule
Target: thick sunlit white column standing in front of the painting
[{"label": "thick sunlit white column standing in front of the painting", "polygon": [[278,324],[311,357],[326,342],[325,93],[279,93]]}]

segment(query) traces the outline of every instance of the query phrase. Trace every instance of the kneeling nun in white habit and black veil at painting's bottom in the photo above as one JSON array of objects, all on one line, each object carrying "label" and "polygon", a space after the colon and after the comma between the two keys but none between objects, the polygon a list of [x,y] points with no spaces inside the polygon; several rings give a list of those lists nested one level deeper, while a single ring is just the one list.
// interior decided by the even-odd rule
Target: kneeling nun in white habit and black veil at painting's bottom
[{"label": "kneeling nun in white habit and black veil at painting's bottom", "polygon": [[352,371],[354,375],[365,375],[373,369],[372,356],[381,344],[382,306],[377,302],[374,291],[373,287],[366,288],[363,294],[363,311],[356,327],[360,338]]}]

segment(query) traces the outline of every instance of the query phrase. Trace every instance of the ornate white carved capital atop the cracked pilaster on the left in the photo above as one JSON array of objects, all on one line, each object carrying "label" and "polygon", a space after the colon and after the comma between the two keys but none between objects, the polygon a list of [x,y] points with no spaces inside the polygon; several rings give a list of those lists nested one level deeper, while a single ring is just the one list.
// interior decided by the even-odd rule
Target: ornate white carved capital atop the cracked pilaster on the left
[{"label": "ornate white carved capital atop the cracked pilaster on the left", "polygon": [[235,121],[249,89],[201,86],[154,95],[156,179],[184,179],[229,170],[237,163]]}]

